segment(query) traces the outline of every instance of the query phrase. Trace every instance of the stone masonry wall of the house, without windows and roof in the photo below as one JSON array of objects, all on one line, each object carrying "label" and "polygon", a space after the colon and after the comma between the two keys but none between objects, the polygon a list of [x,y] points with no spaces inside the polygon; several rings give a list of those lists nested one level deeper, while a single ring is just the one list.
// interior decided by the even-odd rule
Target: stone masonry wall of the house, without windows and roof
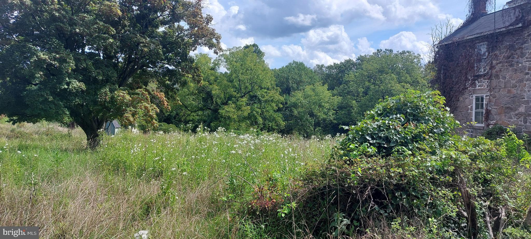
[{"label": "stone masonry wall of the house, without windows and roof", "polygon": [[[516,131],[531,134],[531,25],[528,24],[531,22],[531,6],[524,8],[523,13],[523,26],[519,28],[454,43],[461,45],[460,49],[475,50],[476,43],[486,41],[489,49],[487,72],[482,75],[469,74],[469,88],[455,89],[459,95],[447,97],[451,112],[472,136],[481,135],[483,130],[495,123],[515,126]],[[470,61],[464,59],[463,55],[455,56],[457,63]],[[445,81],[467,80],[452,75],[457,70],[447,70]],[[485,94],[484,126],[467,124],[473,121],[475,94]]]}]

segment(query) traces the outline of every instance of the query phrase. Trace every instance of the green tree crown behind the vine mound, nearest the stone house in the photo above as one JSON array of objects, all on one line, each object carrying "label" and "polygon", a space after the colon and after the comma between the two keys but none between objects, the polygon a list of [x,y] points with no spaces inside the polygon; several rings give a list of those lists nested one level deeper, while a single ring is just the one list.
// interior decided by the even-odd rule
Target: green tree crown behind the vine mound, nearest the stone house
[{"label": "green tree crown behind the vine mound, nearest the stone house", "polygon": [[356,64],[356,69],[335,88],[335,95],[342,97],[338,116],[341,125],[363,119],[363,113],[380,100],[407,90],[424,92],[429,88],[421,57],[411,51],[379,49],[372,55],[359,56]]}]

